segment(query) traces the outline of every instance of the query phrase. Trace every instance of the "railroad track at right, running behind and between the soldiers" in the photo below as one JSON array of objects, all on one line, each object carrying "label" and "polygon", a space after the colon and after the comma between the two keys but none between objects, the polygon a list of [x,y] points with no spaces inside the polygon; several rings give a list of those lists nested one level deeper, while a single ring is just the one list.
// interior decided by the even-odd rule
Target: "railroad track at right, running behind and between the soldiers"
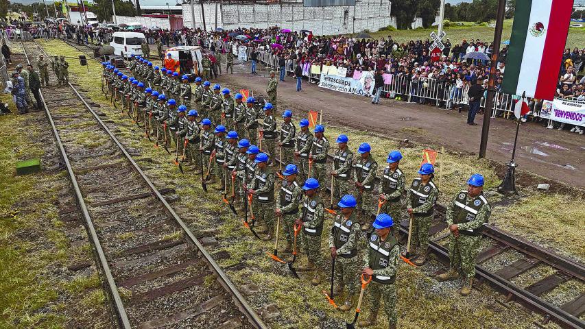
[{"label": "railroad track at right, running behind and between the soldiers", "polygon": [[[76,45],[72,46],[86,52]],[[95,60],[99,61],[97,58]],[[275,160],[278,162],[276,157]],[[330,155],[329,162],[331,161],[333,161],[333,157]],[[377,178],[377,182],[379,182],[379,178]],[[330,192],[329,187],[326,187],[326,190]],[[448,249],[444,247],[444,242],[449,239],[449,232],[445,232],[447,227],[445,222],[446,208],[437,204],[435,210],[437,211],[435,211],[435,217],[429,229],[429,237],[431,237],[429,247],[440,263],[449,267]],[[408,221],[401,221],[400,230],[404,234],[408,233]],[[527,308],[542,313],[544,315],[542,324],[547,324],[552,320],[562,328],[585,328],[585,321],[582,319],[582,315],[585,313],[584,292],[580,292],[571,300],[560,305],[547,302],[545,296],[548,293],[553,293],[560,285],[570,280],[585,283],[584,264],[514,236],[497,228],[497,226],[486,225],[483,231],[483,240],[481,245],[486,247],[479,252],[476,260],[476,276],[479,283],[489,282],[492,287],[506,295],[505,302],[516,300]],[[514,262],[494,271],[490,271],[488,267],[484,266],[490,263],[490,260],[494,260],[506,252],[516,252],[521,256],[517,257]],[[527,287],[514,284],[515,278],[540,266],[552,268],[552,274]]]}]

